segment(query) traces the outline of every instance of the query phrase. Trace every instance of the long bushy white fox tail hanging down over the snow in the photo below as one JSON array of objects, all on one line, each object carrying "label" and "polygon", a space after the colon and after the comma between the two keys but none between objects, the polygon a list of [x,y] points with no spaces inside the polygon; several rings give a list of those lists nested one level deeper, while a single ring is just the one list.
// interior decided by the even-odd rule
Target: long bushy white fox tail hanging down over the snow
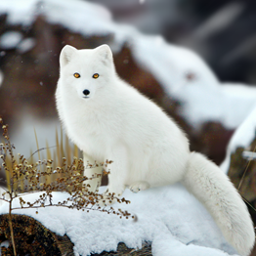
[{"label": "long bushy white fox tail hanging down over the snow", "polygon": [[249,255],[255,241],[253,224],[241,196],[221,169],[192,152],[184,184],[208,209],[237,252]]}]

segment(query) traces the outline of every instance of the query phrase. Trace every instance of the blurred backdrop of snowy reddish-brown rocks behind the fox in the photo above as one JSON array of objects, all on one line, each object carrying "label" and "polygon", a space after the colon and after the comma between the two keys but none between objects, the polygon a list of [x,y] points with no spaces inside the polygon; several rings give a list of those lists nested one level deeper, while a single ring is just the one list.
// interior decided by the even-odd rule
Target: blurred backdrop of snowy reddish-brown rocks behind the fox
[{"label": "blurred backdrop of snowy reddish-brown rocks behind the fox", "polygon": [[39,148],[56,145],[64,45],[104,43],[117,73],[177,121],[191,149],[222,163],[256,105],[255,0],[1,0],[0,116],[17,152],[37,149],[34,130]]}]

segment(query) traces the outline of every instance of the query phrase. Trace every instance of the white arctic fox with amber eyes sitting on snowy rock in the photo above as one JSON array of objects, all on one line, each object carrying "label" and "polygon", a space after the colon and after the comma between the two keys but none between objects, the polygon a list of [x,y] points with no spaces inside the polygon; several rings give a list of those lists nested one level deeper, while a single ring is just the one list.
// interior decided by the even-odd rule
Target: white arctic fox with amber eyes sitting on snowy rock
[{"label": "white arctic fox with amber eyes sitting on snowy rock", "polygon": [[237,252],[248,255],[254,229],[233,184],[217,165],[190,151],[185,133],[160,107],[118,77],[109,47],[66,45],[60,65],[56,102],[61,121],[83,150],[85,163],[113,161],[107,192],[121,195],[126,187],[139,192],[182,182]]}]

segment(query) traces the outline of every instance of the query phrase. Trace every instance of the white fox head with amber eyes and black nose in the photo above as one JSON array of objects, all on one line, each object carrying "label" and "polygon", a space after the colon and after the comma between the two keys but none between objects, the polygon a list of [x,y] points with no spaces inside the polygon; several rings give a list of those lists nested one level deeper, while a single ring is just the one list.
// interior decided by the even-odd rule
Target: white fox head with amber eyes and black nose
[{"label": "white fox head with amber eyes and black nose", "polygon": [[112,53],[106,44],[93,50],[77,50],[65,45],[60,66],[62,83],[85,100],[93,99],[97,91],[107,87],[115,73]]}]

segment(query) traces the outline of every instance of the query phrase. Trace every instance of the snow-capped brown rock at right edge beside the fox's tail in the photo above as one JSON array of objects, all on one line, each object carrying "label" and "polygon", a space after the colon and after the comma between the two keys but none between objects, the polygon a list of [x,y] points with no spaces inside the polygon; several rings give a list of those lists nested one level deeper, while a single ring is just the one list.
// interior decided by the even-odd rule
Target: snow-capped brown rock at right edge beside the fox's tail
[{"label": "snow-capped brown rock at right edge beside the fox's tail", "polygon": [[220,167],[229,174],[235,188],[249,203],[248,208],[252,211],[255,222],[253,207],[256,208],[256,105],[235,130],[226,158]]}]

